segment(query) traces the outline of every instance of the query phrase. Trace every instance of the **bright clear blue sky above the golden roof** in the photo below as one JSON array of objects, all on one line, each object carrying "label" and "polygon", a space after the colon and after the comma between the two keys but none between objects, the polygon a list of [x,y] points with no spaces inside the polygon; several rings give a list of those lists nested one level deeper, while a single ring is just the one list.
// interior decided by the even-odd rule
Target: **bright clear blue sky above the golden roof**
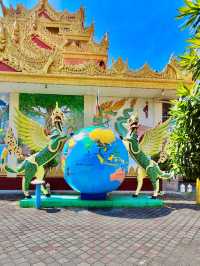
[{"label": "bright clear blue sky above the golden roof", "polygon": [[[4,0],[6,5],[24,3],[32,7],[37,0]],[[161,70],[170,55],[180,55],[186,47],[186,31],[175,19],[183,0],[49,0],[58,10],[71,12],[81,5],[86,10],[86,25],[95,22],[95,39],[109,33],[109,58],[128,58],[130,68],[148,63]]]}]

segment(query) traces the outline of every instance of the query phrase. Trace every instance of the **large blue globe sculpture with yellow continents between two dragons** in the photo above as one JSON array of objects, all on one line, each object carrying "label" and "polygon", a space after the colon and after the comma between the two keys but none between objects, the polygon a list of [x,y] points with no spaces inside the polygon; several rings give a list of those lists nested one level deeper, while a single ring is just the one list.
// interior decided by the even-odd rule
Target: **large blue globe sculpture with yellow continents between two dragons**
[{"label": "large blue globe sculpture with yellow continents between two dragons", "polygon": [[112,130],[84,128],[64,146],[64,178],[81,199],[105,199],[124,180],[128,160],[123,142]]}]

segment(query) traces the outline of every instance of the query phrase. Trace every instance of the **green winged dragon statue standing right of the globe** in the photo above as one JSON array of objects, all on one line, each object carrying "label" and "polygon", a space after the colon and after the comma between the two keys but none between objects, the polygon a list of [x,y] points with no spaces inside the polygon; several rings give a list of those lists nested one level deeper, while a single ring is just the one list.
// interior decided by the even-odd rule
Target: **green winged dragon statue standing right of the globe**
[{"label": "green winged dragon statue standing right of the globe", "polygon": [[170,179],[173,176],[173,173],[161,171],[158,164],[151,159],[151,156],[160,152],[163,141],[168,135],[169,125],[170,120],[167,120],[148,130],[139,143],[137,136],[138,116],[133,113],[133,109],[125,109],[123,116],[118,117],[116,120],[115,129],[122,138],[130,156],[138,164],[136,169],[138,184],[134,197],[139,195],[145,177],[148,176],[153,185],[154,193],[152,198],[157,198],[159,179]]}]

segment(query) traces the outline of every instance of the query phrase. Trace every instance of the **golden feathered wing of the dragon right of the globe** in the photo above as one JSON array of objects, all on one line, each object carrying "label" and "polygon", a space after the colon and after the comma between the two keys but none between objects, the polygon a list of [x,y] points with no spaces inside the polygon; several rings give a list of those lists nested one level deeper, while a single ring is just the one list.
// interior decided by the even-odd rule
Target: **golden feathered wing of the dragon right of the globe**
[{"label": "golden feathered wing of the dragon right of the globe", "polygon": [[162,144],[169,135],[171,119],[147,130],[140,142],[141,150],[149,156],[158,154],[162,150]]}]

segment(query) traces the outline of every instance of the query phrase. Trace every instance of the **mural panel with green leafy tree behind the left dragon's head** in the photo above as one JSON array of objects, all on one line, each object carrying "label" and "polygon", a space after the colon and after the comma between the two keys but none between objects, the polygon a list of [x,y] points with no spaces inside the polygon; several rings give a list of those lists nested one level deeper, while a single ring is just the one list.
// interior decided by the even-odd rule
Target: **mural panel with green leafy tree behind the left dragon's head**
[{"label": "mural panel with green leafy tree behind the left dragon's head", "polygon": [[[25,115],[44,126],[45,130],[51,128],[50,116],[56,103],[65,114],[63,130],[77,130],[84,126],[84,97],[73,95],[53,95],[53,94],[20,94],[19,109]],[[20,143],[22,145],[22,143]],[[23,145],[23,153],[30,155],[27,146]],[[62,176],[63,173],[58,167],[54,169],[50,176]]]}]

